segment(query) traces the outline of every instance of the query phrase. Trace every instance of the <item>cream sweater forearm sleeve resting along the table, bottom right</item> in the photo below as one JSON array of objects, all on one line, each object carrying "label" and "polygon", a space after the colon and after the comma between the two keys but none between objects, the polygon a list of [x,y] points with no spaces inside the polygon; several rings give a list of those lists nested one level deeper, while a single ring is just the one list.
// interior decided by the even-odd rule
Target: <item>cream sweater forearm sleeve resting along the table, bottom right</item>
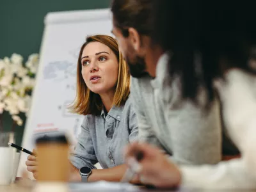
[{"label": "cream sweater forearm sleeve resting along the table, bottom right", "polygon": [[244,159],[216,165],[181,166],[182,188],[255,189],[256,180],[247,172]]}]

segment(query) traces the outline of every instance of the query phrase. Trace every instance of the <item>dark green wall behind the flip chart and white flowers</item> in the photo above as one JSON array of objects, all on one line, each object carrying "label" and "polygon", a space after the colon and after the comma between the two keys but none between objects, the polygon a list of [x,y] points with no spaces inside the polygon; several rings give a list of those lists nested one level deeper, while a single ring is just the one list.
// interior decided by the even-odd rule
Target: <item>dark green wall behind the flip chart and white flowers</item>
[{"label": "dark green wall behind the flip chart and white flowers", "polygon": [[[108,8],[110,0],[1,0],[0,1],[0,58],[19,53],[27,60],[39,52],[44,30],[44,17],[49,12]],[[3,116],[4,129],[12,127],[8,113]],[[16,127],[17,144],[21,142],[22,127]]]}]

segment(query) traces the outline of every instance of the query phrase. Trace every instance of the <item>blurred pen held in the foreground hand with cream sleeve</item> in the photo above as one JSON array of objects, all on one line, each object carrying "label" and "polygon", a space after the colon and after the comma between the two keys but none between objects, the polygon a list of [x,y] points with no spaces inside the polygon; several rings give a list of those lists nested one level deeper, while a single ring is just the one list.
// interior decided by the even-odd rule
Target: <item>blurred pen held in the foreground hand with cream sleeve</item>
[{"label": "blurred pen held in the foreground hand with cream sleeve", "polygon": [[124,176],[120,180],[120,182],[130,182],[134,175],[136,174],[136,171],[140,169],[140,164],[138,163],[143,159],[143,153],[142,152],[136,152],[135,153],[136,159],[129,159],[129,164],[131,165],[130,168],[127,168],[126,172],[124,173]]}]

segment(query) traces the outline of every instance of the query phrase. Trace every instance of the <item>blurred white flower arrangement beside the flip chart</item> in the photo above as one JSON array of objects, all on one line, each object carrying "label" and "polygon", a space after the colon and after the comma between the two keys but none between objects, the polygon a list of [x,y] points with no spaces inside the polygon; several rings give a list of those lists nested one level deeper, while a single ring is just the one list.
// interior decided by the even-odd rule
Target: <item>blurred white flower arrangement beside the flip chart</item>
[{"label": "blurred white flower arrangement beside the flip chart", "polygon": [[31,54],[26,63],[15,53],[10,58],[0,59],[0,116],[8,111],[19,126],[23,124],[20,114],[28,116],[29,113],[37,68],[38,54]]}]

